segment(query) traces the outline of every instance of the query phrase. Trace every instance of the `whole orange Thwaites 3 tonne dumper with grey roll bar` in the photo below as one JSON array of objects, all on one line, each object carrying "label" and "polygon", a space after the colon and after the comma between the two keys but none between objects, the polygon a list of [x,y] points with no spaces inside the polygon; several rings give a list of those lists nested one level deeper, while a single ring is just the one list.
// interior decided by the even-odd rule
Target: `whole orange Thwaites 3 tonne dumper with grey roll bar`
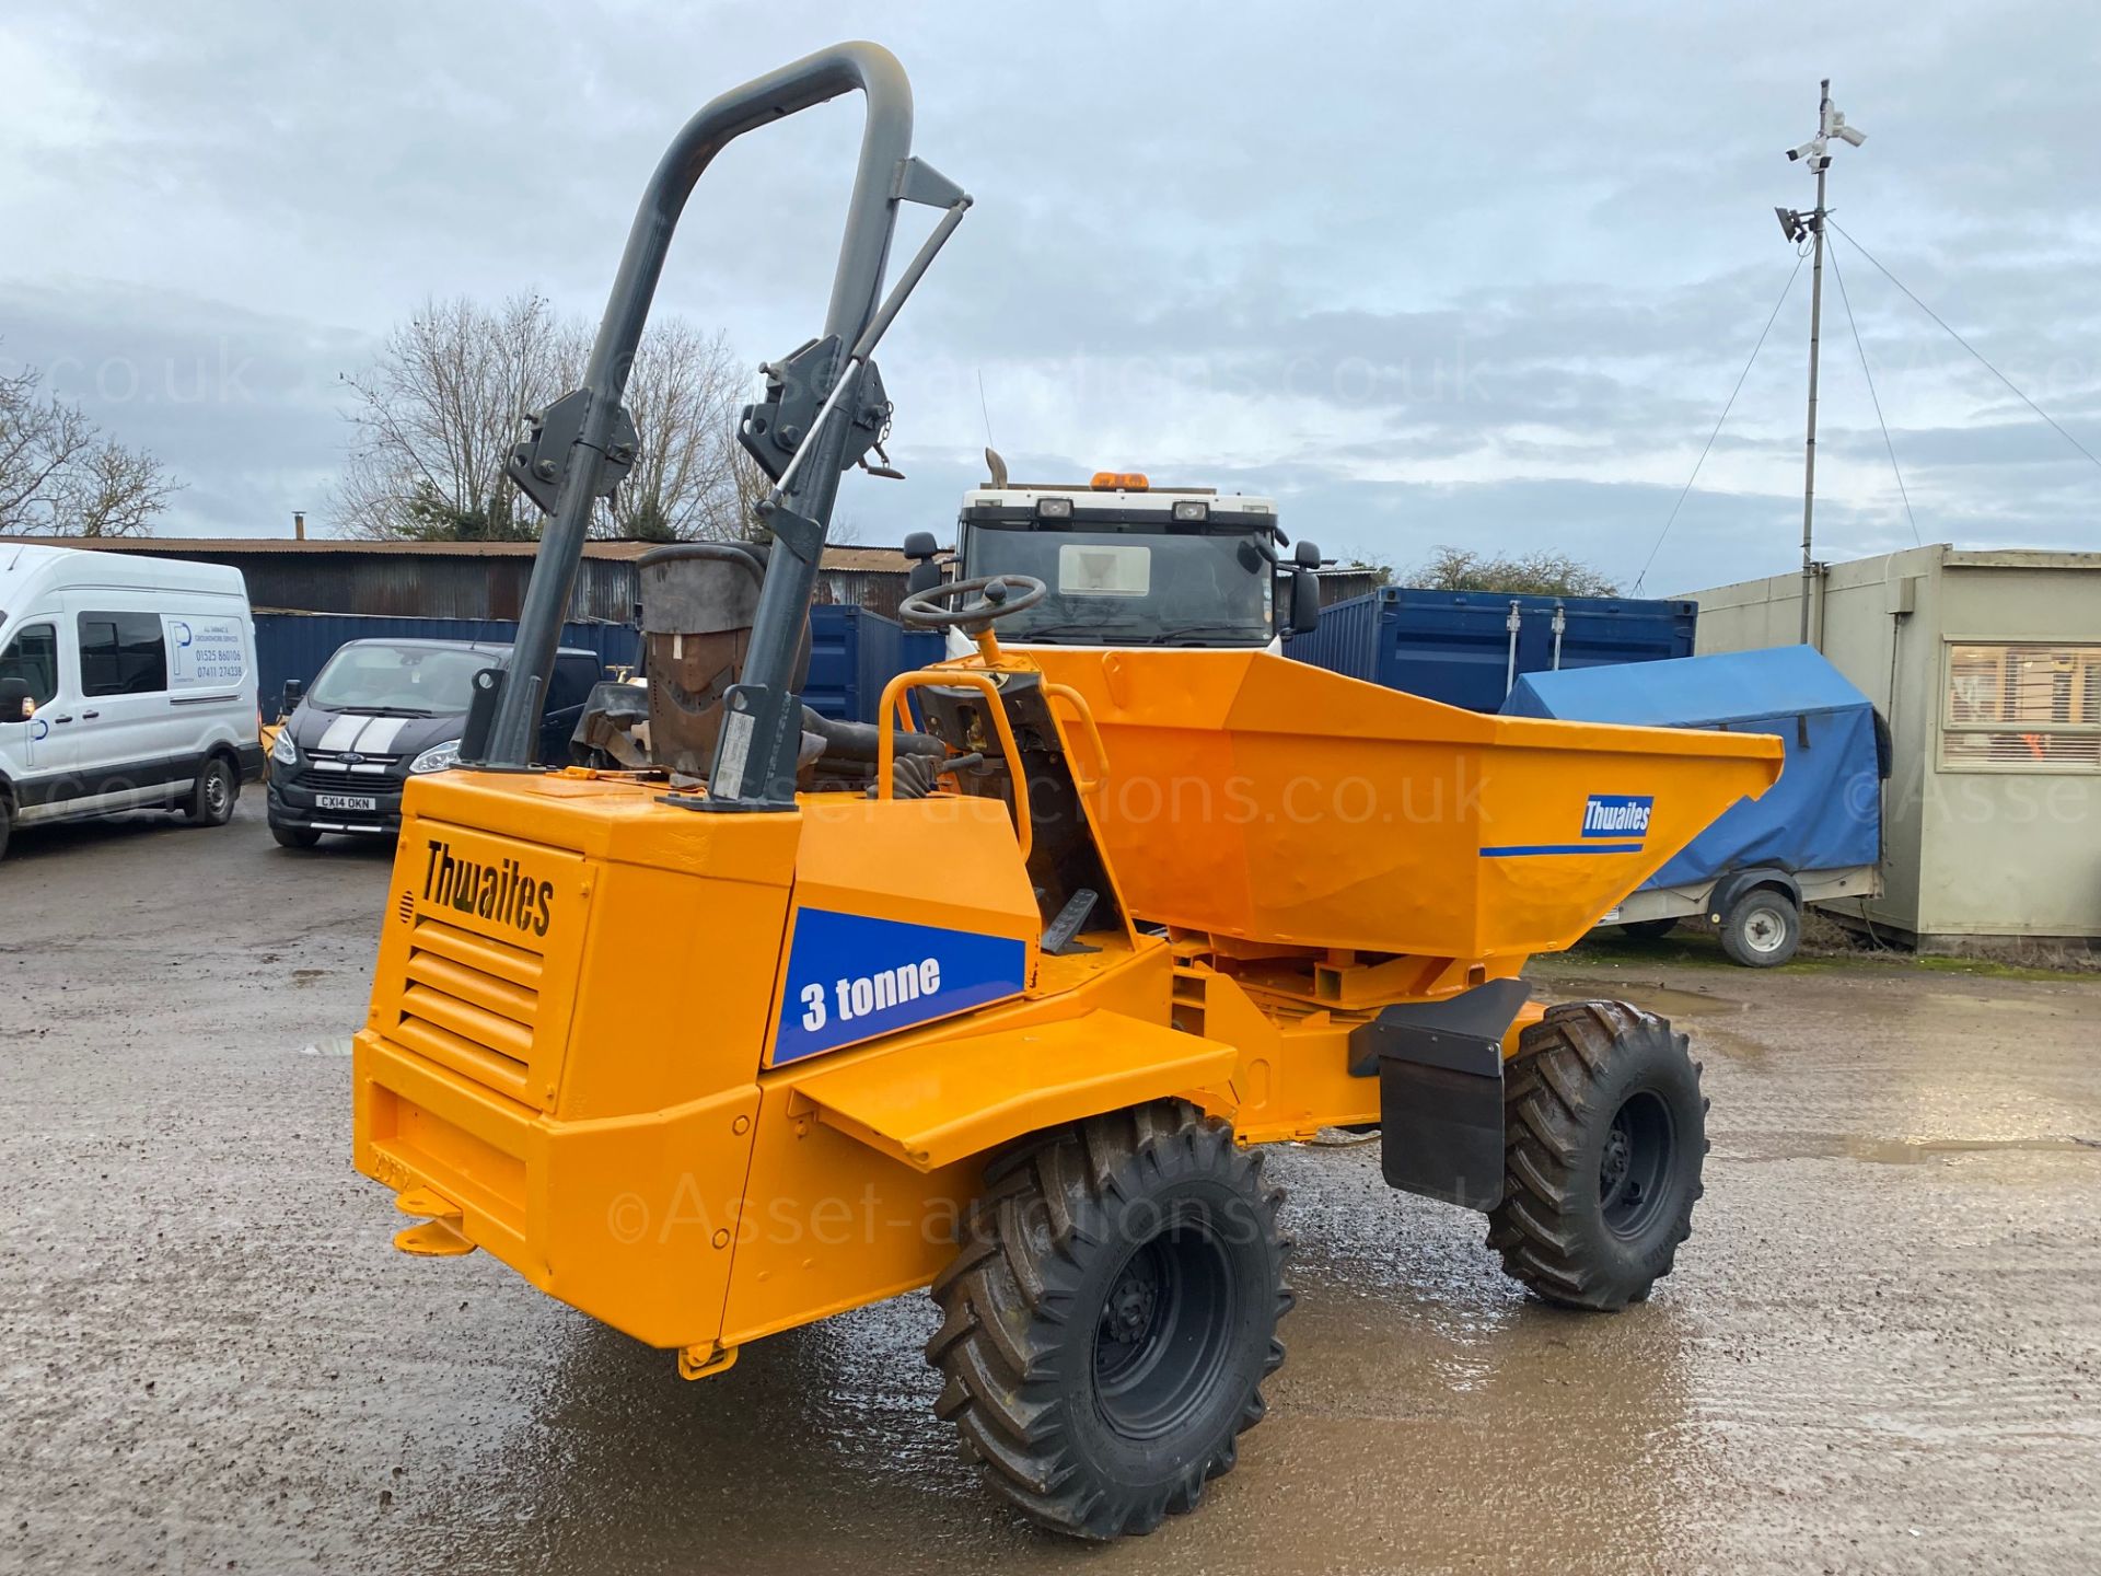
[{"label": "whole orange Thwaites 3 tonne dumper with grey roll bar", "polygon": [[[824,330],[740,429],[771,551],[683,555],[645,603],[668,765],[607,687],[584,731],[630,765],[527,769],[687,193],[729,139],[849,90]],[[910,118],[897,63],[843,44],[710,103],[651,179],[586,385],[513,462],[553,519],[475,765],[408,788],[355,1158],[420,1221],[397,1246],[485,1248],[695,1378],[931,1286],[937,1412],[985,1481],[1111,1538],[1193,1509],[1263,1414],[1292,1301],[1263,1143],[1378,1124],[1387,1181],[1488,1212],[1555,1303],[1670,1269],[1704,1149],[1683,1036],[1540,1011],[1517,973],[1763,792],[1777,742],[1479,717],[1263,649],[1002,649],[1044,595],[1021,576],[908,601],[973,649],[897,677],[882,727],[803,712],[832,500],[891,418],[870,351],[969,206]],[[885,298],[901,204],[941,219]],[[695,649],[733,675],[702,683]],[[1593,834],[1628,799],[1643,826]]]}]

